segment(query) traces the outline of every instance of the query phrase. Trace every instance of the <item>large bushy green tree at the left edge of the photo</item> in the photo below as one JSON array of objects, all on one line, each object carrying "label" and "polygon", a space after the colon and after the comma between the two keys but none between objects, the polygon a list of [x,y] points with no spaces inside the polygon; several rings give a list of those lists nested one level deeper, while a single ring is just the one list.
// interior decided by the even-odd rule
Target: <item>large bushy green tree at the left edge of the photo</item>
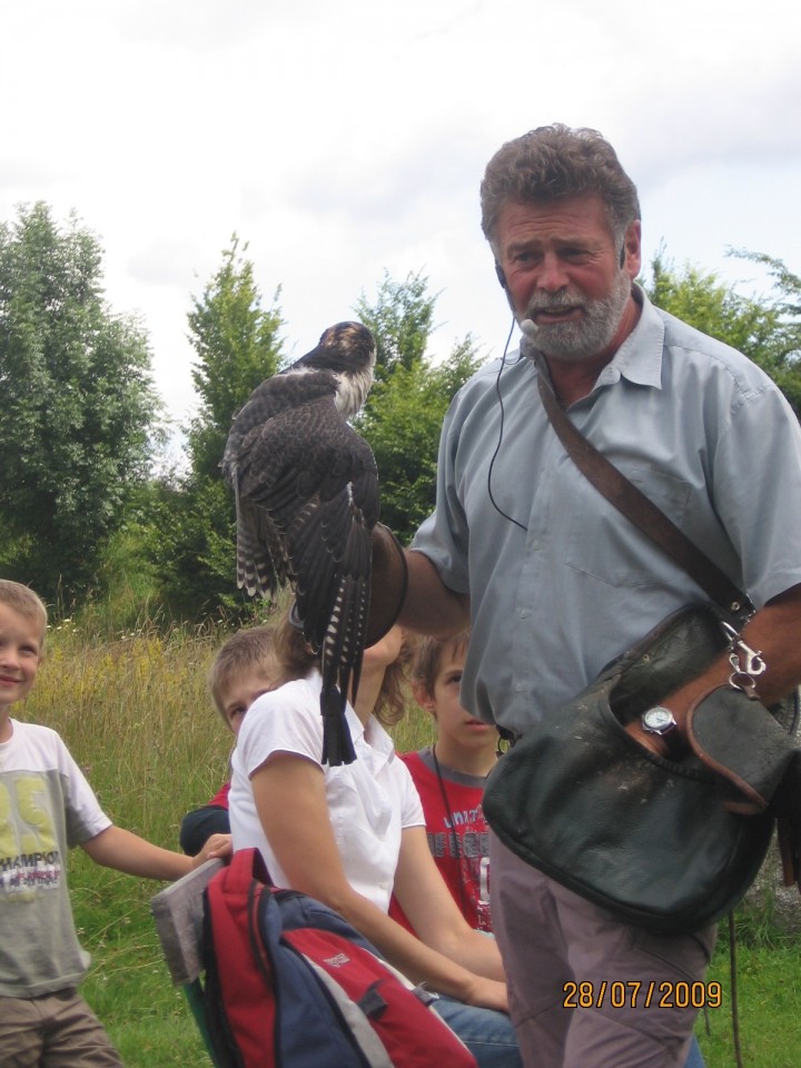
[{"label": "large bushy green tree at the left edge of the photo", "polygon": [[160,406],[147,334],[103,298],[102,250],[43,202],[0,225],[3,572],[68,603],[146,476]]}]

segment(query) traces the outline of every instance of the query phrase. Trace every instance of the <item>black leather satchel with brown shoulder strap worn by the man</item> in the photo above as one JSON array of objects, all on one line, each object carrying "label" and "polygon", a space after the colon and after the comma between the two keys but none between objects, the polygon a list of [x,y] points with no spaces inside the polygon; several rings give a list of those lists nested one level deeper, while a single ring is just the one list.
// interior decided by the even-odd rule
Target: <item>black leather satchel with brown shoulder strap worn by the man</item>
[{"label": "black leather satchel with brown shoulder strap worn by the man", "polygon": [[[542,374],[540,383],[551,393]],[[625,731],[733,649],[753,607],[651,502],[651,520],[639,522],[629,490],[640,492],[562,418],[580,439],[581,463],[568,452],[584,473],[587,455],[591,465],[600,459],[612,469],[607,493],[587,474],[593,484],[716,603],[669,616],[546,714],[491,772],[484,814],[518,857],[623,921],[663,934],[696,931],[736,904],[762,864],[775,824],[771,799],[798,767],[798,703],[793,695],[768,710],[742,689],[716,686],[690,710],[691,749],[679,760],[650,752]]]}]

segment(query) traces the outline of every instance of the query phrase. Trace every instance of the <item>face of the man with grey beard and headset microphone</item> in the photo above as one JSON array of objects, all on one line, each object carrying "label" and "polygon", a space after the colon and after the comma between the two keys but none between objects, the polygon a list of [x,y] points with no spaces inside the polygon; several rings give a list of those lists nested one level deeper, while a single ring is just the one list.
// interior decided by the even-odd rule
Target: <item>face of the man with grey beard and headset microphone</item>
[{"label": "face of the man with grey beard and headset microphone", "polygon": [[639,222],[626,231],[622,266],[597,196],[511,201],[501,209],[494,244],[518,319],[537,327],[536,348],[570,362],[614,352],[640,270]]}]

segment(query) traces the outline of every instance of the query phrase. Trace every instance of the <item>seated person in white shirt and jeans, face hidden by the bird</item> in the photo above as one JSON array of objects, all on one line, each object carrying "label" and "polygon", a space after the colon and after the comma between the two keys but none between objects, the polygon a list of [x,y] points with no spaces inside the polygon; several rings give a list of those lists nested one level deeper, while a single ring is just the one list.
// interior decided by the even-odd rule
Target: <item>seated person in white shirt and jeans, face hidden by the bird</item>
[{"label": "seated person in white shirt and jeans, face hidden by the bird", "polygon": [[[400,644],[394,629],[373,647],[358,711],[347,708],[357,760],[330,768],[320,764],[317,657],[281,621],[275,647],[294,681],[259,698],[239,733],[230,791],[235,848],[258,848],[279,886],[324,901],[413,982],[444,995],[437,1011],[482,1068],[515,1068],[521,1060],[511,1021],[505,1011],[491,1011],[507,1005],[497,947],[455,906],[428,850],[408,770],[372,713],[380,698],[376,682],[397,661]],[[393,889],[419,937],[387,914]]]}]

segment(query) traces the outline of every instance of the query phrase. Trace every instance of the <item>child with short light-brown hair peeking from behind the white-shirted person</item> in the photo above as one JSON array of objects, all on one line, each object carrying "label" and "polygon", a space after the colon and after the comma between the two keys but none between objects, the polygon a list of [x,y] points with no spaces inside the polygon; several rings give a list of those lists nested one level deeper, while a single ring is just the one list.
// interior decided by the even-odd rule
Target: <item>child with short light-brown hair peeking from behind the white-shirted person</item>
[{"label": "child with short light-brown hair peeking from behind the white-shirted person", "polygon": [[[284,681],[269,626],[253,626],[233,634],[220,646],[208,676],[215,706],[235,738],[256,698]],[[184,817],[178,841],[185,853],[198,853],[209,834],[230,832],[229,790],[230,782],[225,782],[208,804]]]}]

